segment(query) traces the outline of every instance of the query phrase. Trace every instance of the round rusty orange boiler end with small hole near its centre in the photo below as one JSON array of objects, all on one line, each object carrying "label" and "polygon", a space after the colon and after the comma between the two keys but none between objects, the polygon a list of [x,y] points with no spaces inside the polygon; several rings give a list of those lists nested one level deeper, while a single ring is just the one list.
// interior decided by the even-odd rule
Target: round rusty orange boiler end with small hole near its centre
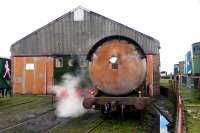
[{"label": "round rusty orange boiler end with small hole near its centre", "polygon": [[103,42],[92,54],[89,75],[103,93],[129,94],[145,80],[146,58],[137,44],[111,39]]}]

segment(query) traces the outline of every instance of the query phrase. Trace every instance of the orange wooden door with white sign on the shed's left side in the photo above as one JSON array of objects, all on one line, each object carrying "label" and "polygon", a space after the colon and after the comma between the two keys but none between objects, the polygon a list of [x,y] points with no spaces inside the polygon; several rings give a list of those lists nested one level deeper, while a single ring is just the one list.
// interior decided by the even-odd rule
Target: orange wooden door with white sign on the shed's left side
[{"label": "orange wooden door with white sign on the shed's left side", "polygon": [[51,93],[53,86],[52,57],[14,57],[13,68],[14,93]]}]

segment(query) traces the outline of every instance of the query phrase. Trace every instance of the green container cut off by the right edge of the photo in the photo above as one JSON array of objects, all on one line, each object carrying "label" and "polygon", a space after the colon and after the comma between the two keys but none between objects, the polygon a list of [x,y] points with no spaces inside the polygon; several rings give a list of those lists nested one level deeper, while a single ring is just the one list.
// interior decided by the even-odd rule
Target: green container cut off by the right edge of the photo
[{"label": "green container cut off by the right edge of the photo", "polygon": [[200,55],[193,55],[192,58],[192,75],[200,75]]}]

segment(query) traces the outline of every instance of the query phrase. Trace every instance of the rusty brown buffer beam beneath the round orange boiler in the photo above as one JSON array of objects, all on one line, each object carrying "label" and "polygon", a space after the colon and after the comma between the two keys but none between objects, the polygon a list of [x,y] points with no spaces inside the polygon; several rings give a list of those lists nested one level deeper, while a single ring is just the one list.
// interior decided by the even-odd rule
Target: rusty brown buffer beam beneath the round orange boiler
[{"label": "rusty brown buffer beam beneath the round orange boiler", "polygon": [[90,109],[92,105],[132,105],[136,109],[142,110],[152,101],[151,97],[88,97],[84,99],[83,106]]}]

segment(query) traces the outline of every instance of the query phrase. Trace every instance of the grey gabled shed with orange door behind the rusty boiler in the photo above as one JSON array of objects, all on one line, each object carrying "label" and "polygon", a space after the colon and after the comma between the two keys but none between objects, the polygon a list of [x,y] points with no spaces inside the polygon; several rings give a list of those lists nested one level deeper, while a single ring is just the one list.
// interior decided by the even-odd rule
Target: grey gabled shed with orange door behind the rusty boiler
[{"label": "grey gabled shed with orange door behind the rusty boiler", "polygon": [[[143,48],[149,62],[158,62],[159,41],[109,18],[77,7],[11,46],[14,93],[48,94],[55,83],[56,68],[65,66],[63,57],[78,57],[80,68],[87,68],[86,55],[103,39],[125,37]],[[151,66],[152,72],[159,66]],[[66,71],[65,71],[66,72]],[[153,79],[149,77],[152,86]],[[159,93],[157,88],[156,93]]]}]

